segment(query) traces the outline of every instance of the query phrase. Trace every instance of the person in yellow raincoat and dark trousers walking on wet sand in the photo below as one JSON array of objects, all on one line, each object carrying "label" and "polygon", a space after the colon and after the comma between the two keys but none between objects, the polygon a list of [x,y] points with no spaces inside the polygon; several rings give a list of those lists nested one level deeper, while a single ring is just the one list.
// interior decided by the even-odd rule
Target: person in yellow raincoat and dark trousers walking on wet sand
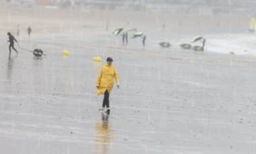
[{"label": "person in yellow raincoat and dark trousers walking on wet sand", "polygon": [[[110,113],[109,108],[109,94],[114,87],[114,78],[117,83],[117,88],[119,88],[119,74],[113,66],[113,58],[108,57],[106,59],[106,64],[102,66],[100,70],[100,74],[98,75],[97,80],[97,94],[104,94],[104,99],[102,103],[102,112],[106,111],[108,114]],[[105,110],[106,107],[106,110]]]}]

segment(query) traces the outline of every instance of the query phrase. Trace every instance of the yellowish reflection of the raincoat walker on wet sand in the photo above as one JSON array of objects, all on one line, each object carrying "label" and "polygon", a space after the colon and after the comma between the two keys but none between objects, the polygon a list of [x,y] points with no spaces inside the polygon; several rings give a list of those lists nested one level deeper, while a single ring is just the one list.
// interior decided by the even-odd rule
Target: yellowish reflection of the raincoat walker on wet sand
[{"label": "yellowish reflection of the raincoat walker on wet sand", "polygon": [[96,153],[98,154],[108,153],[112,136],[110,126],[108,125],[108,117],[109,114],[102,113],[102,121],[96,123],[95,145]]}]

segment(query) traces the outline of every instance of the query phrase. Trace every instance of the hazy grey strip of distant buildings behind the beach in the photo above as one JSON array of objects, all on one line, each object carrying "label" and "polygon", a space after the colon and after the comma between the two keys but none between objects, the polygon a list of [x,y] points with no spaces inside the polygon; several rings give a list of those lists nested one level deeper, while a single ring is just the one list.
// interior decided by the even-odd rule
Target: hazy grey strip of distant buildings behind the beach
[{"label": "hazy grey strip of distant buildings behind the beach", "polygon": [[52,5],[58,7],[93,8],[110,10],[158,10],[184,11],[187,13],[253,13],[256,2],[253,0],[2,0],[10,5]]}]

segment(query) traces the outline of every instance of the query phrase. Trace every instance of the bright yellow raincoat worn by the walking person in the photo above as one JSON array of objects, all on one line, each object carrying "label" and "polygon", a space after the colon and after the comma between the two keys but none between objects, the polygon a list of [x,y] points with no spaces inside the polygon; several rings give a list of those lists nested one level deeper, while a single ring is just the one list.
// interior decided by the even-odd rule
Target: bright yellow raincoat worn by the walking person
[{"label": "bright yellow raincoat worn by the walking person", "polygon": [[100,86],[97,90],[97,94],[104,94],[106,90],[110,93],[114,87],[114,78],[116,83],[119,84],[119,75],[115,67],[113,65],[108,66],[108,64],[102,66],[97,80],[97,86]]}]

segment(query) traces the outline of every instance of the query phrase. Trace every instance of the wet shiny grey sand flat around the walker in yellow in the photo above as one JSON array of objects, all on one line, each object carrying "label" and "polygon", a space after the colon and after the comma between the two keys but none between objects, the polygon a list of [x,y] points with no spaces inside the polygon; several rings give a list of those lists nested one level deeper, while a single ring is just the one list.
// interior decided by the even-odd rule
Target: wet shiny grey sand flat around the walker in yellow
[{"label": "wet shiny grey sand flat around the walker in yellow", "polygon": [[[23,34],[22,48],[42,48],[42,60],[24,50],[9,59],[0,43],[1,151],[255,153],[254,57],[163,50],[150,44],[158,35],[146,48],[137,40],[123,47],[104,28],[81,31],[65,26],[59,33],[56,26],[30,39]],[[121,80],[110,94],[108,121],[95,88],[104,63],[94,56],[112,56]]]}]

